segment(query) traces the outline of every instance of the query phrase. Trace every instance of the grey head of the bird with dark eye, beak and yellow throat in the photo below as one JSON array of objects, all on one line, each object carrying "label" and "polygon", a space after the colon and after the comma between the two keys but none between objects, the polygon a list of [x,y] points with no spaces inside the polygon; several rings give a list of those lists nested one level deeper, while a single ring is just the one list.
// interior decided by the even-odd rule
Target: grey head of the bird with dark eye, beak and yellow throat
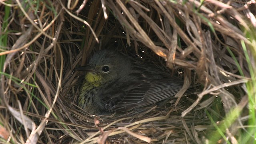
[{"label": "grey head of the bird with dark eye, beak and yellow throat", "polygon": [[100,86],[100,84],[110,83],[127,76],[130,69],[131,62],[126,56],[105,49],[95,53],[87,66],[76,70],[86,71],[86,81]]}]

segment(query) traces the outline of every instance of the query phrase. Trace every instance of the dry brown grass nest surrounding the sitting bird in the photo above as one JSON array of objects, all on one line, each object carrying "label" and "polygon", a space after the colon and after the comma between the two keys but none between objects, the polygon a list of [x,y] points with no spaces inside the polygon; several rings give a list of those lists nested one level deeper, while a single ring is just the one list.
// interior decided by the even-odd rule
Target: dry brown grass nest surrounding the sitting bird
[{"label": "dry brown grass nest surrounding the sitting bird", "polygon": [[[254,141],[254,1],[5,1],[0,10],[2,143]],[[91,115],[76,105],[83,75],[74,68],[103,48],[171,70],[181,92],[202,87]]]}]

